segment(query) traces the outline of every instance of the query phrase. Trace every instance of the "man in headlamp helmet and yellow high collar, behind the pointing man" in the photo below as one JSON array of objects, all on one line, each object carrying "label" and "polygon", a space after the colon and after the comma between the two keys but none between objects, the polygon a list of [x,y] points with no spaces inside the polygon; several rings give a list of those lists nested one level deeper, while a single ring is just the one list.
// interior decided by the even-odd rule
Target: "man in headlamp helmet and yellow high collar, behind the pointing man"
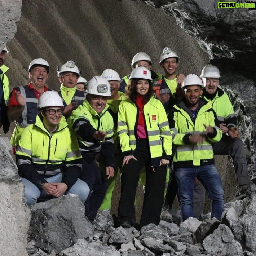
[{"label": "man in headlamp helmet and yellow high collar, behind the pointing man", "polygon": [[64,104],[63,116],[67,119],[72,111],[83,104],[85,100],[84,92],[76,88],[80,71],[74,61],[67,61],[60,69],[58,67],[57,74],[61,82],[58,94],[61,96]]}]

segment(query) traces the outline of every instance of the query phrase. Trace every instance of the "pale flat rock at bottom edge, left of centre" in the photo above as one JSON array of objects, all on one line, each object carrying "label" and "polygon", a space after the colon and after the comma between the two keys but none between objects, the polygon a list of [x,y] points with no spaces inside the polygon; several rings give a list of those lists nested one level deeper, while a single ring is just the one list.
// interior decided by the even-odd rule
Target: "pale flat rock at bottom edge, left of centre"
[{"label": "pale flat rock at bottom edge, left of centre", "polygon": [[74,255],[111,255],[120,256],[120,252],[110,246],[102,246],[100,241],[88,243],[84,239],[79,239],[76,244],[59,253],[59,256],[74,256]]}]

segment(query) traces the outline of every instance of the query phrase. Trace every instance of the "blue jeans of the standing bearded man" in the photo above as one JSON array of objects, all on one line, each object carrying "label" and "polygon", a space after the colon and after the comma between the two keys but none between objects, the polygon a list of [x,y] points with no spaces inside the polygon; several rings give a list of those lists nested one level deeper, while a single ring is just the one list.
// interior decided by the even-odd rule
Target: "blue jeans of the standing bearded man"
[{"label": "blue jeans of the standing bearded man", "polygon": [[195,178],[202,182],[211,198],[211,217],[221,220],[224,211],[224,193],[220,174],[215,164],[175,169],[180,196],[182,219],[194,217],[193,193]]}]

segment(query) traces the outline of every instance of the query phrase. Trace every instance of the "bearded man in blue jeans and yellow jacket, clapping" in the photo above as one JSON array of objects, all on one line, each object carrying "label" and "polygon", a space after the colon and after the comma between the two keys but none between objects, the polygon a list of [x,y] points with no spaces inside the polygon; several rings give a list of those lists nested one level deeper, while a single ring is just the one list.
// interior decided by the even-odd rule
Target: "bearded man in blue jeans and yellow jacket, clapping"
[{"label": "bearded man in blue jeans and yellow jacket, clapping", "polygon": [[182,84],[185,98],[168,115],[173,145],[176,147],[173,167],[183,220],[194,217],[196,178],[208,190],[212,203],[211,217],[221,220],[224,209],[222,182],[214,164],[211,145],[221,140],[222,132],[211,104],[200,98],[203,87],[197,75],[188,75]]}]

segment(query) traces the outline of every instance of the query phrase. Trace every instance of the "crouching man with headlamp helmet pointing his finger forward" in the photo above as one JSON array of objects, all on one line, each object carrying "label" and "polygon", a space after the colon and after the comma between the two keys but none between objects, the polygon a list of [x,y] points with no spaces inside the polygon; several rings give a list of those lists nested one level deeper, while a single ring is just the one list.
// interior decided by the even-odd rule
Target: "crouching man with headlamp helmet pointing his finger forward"
[{"label": "crouching man with headlamp helmet pointing his finger forward", "polygon": [[114,125],[112,116],[107,111],[107,99],[111,96],[111,91],[106,78],[94,76],[89,80],[85,92],[86,100],[72,112],[68,123],[76,133],[83,157],[80,178],[88,184],[91,191],[85,201],[85,215],[93,221],[107,190],[107,182],[95,158],[101,153],[105,161],[106,178],[114,176]]}]

